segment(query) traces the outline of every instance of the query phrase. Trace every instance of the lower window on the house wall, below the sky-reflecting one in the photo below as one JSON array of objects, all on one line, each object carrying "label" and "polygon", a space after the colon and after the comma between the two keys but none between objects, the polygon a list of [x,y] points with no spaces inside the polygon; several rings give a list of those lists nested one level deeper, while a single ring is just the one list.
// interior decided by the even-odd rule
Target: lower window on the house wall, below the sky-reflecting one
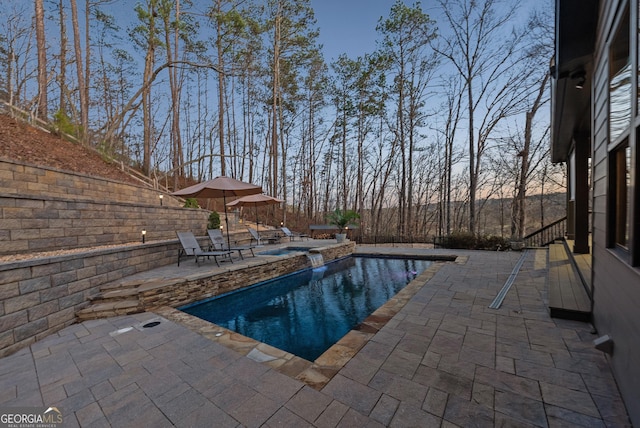
[{"label": "lower window on the house wall, below the sky-reflecting one", "polygon": [[610,153],[612,246],[629,249],[631,209],[631,148],[625,142]]}]

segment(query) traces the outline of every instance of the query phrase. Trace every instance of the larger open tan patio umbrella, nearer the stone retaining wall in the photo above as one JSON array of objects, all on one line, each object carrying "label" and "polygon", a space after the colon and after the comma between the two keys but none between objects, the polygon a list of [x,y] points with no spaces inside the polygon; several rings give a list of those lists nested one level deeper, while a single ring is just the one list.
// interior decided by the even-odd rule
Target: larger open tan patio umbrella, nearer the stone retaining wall
[{"label": "larger open tan patio umbrella, nearer the stone retaining wall", "polygon": [[227,225],[227,245],[231,247],[229,239],[229,219],[227,218],[227,196],[247,196],[262,193],[262,187],[245,183],[235,178],[220,176],[213,180],[203,181],[193,186],[185,187],[172,195],[188,198],[222,198],[224,202],[224,221]]}]

